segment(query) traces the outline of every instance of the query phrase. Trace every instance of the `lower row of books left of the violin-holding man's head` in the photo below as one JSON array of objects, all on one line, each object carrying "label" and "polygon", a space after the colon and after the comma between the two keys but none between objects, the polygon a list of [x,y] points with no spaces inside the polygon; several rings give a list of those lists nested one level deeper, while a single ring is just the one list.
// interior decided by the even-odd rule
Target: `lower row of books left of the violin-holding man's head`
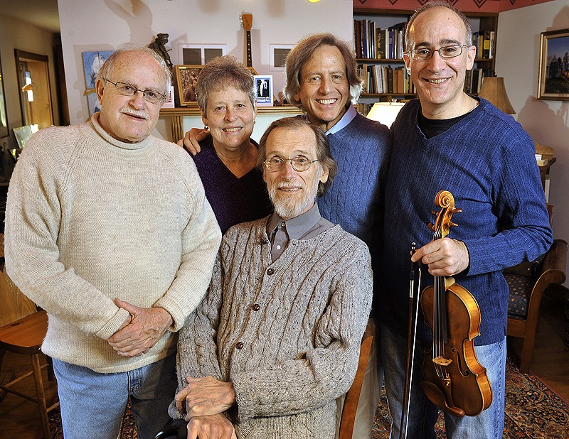
[{"label": "lower row of books left of the violin-holding man's head", "polygon": [[363,79],[363,93],[415,93],[413,82],[405,67],[392,68],[390,65],[358,65]]}]

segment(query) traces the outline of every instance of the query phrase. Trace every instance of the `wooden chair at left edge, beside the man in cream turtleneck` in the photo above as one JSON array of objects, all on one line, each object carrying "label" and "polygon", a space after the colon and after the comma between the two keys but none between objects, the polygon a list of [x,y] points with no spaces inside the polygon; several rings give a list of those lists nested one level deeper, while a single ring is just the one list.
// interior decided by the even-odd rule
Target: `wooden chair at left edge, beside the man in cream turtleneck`
[{"label": "wooden chair at left edge, beside the man in cream turtleneck", "polygon": [[[3,241],[4,235],[1,236]],[[48,364],[40,365],[40,348],[48,330],[46,311],[38,311],[36,305],[26,298],[6,274],[4,266],[4,249],[1,253],[2,271],[0,273],[0,372],[6,351],[16,354],[29,355],[32,370],[8,383],[0,384],[0,389],[21,396],[38,404],[43,438],[50,438],[48,412],[59,406],[59,402],[47,407],[46,394],[43,391],[41,369]],[[12,389],[12,386],[28,376],[33,376],[36,384],[36,396],[23,394]],[[53,371],[48,372],[50,378]]]}]

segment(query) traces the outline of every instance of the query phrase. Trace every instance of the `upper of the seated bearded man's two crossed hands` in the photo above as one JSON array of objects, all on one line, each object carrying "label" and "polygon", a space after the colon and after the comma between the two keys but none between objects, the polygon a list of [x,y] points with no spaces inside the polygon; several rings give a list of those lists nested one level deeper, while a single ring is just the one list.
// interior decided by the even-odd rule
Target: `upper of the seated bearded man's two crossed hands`
[{"label": "upper of the seated bearded man's two crossed hands", "polygon": [[213,376],[205,378],[187,377],[188,385],[176,394],[176,408],[184,412],[186,402],[186,421],[194,416],[209,416],[223,413],[235,403],[233,384],[218,381]]}]

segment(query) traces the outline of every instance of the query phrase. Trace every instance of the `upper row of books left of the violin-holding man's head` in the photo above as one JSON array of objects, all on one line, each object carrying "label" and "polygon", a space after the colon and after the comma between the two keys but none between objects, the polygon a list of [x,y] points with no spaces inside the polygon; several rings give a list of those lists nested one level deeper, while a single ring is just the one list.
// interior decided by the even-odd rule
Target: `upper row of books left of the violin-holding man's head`
[{"label": "upper row of books left of the violin-holding man's head", "polygon": [[373,20],[354,20],[353,33],[356,58],[400,60],[403,58],[405,26],[407,22],[388,28],[378,28]]}]

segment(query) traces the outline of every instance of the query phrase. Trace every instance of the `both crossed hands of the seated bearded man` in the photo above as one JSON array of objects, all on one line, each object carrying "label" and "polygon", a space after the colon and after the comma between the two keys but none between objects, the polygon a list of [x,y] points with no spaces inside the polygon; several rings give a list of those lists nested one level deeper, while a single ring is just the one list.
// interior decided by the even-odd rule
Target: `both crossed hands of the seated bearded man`
[{"label": "both crossed hands of the seated bearded man", "polygon": [[213,376],[186,377],[188,385],[176,394],[176,408],[186,411],[188,439],[237,439],[223,412],[235,403],[233,384]]}]

